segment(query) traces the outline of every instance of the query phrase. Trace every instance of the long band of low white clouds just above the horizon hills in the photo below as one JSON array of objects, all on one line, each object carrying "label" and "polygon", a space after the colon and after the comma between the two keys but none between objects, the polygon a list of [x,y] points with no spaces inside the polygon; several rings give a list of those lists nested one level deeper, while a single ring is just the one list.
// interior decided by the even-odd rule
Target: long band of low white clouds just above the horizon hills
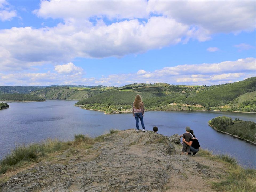
[{"label": "long band of low white clouds just above the horizon hills", "polygon": [[[0,85],[105,85],[122,86],[131,83],[156,83],[187,85],[216,85],[243,80],[255,76],[256,59],[177,65],[155,71],[139,70],[140,73],[111,74],[101,78],[84,77],[80,67],[73,63],[56,66],[59,73],[11,73],[0,74]],[[81,72],[81,73],[80,73]]]}]

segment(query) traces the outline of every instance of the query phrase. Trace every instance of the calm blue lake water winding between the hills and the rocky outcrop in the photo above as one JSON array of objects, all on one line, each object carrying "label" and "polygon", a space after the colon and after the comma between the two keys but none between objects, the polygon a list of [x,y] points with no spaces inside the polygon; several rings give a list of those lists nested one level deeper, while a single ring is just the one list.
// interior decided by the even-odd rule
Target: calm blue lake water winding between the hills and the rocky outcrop
[{"label": "calm blue lake water winding between the hills and the rocky outcrop", "polygon": [[[110,129],[125,130],[135,127],[132,114],[106,115],[100,111],[75,107],[76,102],[7,102],[10,108],[0,110],[0,158],[21,143],[38,142],[49,137],[71,140],[75,134],[95,137]],[[144,122],[147,130],[157,126],[158,133],[167,136],[183,134],[185,127],[190,126],[203,148],[215,154],[228,153],[237,158],[241,165],[255,168],[256,146],[219,133],[208,126],[210,119],[220,115],[245,121],[255,121],[256,117],[253,113],[147,111]]]}]

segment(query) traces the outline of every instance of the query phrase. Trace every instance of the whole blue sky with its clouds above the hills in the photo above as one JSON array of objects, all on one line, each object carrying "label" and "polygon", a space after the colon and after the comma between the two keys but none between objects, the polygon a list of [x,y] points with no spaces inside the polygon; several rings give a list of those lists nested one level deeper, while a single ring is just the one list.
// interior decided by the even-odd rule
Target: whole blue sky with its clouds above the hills
[{"label": "whole blue sky with its clouds above the hills", "polygon": [[256,76],[255,1],[0,0],[0,85]]}]

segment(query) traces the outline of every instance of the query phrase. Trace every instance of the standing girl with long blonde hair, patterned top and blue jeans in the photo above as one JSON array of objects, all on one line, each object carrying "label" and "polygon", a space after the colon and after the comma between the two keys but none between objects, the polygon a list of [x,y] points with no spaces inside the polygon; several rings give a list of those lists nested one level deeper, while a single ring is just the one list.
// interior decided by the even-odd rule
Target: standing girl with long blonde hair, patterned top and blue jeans
[{"label": "standing girl with long blonde hair, patterned top and blue jeans", "polygon": [[144,104],[142,102],[141,96],[136,95],[133,102],[133,117],[135,117],[136,119],[136,132],[139,132],[139,120],[141,121],[142,131],[147,132],[144,126],[143,116],[144,116]]}]

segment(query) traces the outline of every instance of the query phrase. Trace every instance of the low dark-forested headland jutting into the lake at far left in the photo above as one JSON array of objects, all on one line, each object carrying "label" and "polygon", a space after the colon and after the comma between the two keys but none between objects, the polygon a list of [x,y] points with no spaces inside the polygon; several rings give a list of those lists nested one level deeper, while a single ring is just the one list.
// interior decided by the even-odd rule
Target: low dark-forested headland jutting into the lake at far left
[{"label": "low dark-forested headland jutting into the lake at far left", "polygon": [[0,101],[44,101],[42,97],[38,97],[31,94],[22,94],[22,93],[6,93],[0,94]]}]

